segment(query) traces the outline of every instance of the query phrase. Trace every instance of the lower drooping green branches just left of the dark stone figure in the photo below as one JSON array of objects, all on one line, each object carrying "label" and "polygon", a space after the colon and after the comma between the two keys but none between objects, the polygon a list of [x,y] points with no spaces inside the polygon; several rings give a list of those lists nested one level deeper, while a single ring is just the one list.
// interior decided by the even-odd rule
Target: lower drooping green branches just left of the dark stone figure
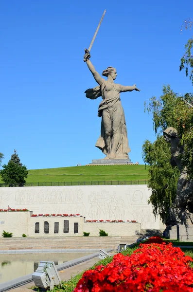
[{"label": "lower drooping green branches just left of the dark stone figure", "polygon": [[179,177],[178,168],[170,164],[170,146],[162,136],[158,136],[154,143],[146,140],[142,147],[142,157],[145,164],[149,164],[148,188],[152,189],[149,203],[153,206],[154,215],[159,214],[163,222],[169,225],[169,208],[175,200]]}]

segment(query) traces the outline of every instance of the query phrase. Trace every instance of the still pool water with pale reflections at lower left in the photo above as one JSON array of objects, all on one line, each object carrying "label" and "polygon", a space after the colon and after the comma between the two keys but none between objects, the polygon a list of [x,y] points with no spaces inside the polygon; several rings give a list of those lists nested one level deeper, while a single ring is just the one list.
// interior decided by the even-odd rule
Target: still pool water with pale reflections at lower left
[{"label": "still pool water with pale reflections at lower left", "polygon": [[0,283],[33,273],[40,260],[53,261],[59,265],[87,255],[89,253],[0,255]]}]

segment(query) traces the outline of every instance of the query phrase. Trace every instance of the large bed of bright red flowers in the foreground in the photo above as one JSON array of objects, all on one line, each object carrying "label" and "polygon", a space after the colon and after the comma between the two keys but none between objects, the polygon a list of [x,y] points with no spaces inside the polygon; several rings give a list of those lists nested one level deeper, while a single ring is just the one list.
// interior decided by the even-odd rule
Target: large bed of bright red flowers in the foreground
[{"label": "large bed of bright red flowers in the foreground", "polygon": [[86,271],[74,292],[193,292],[193,259],[172,243],[151,237],[131,256]]}]

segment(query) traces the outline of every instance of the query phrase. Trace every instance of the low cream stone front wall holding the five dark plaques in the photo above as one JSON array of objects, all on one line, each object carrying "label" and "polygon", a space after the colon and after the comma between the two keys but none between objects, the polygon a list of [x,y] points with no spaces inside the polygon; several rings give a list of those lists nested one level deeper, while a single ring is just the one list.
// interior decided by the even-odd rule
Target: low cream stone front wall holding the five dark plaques
[{"label": "low cream stone front wall holding the five dark plaques", "polygon": [[[69,220],[69,233],[64,233],[64,220]],[[44,222],[49,223],[49,233],[44,232]],[[13,237],[71,237],[83,236],[83,231],[90,236],[99,236],[102,229],[108,236],[135,236],[140,232],[140,223],[101,223],[85,222],[84,217],[31,217],[30,212],[0,212],[0,236],[2,232],[12,232]],[[59,232],[54,233],[54,222],[59,223]],[[78,233],[74,233],[74,222],[78,223]],[[35,223],[39,223],[39,233],[35,233]]]}]

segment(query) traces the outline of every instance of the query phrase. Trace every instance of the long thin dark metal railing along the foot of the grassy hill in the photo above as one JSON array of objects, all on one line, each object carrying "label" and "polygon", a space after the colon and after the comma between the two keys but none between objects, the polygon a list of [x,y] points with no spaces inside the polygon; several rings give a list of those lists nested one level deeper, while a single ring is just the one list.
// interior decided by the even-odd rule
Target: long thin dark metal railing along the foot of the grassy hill
[{"label": "long thin dark metal railing along the foot of the grassy hill", "polygon": [[124,184],[147,184],[147,181],[91,181],[91,182],[45,182],[45,183],[24,183],[24,184],[6,184],[0,183],[0,187],[15,186],[70,186],[70,185],[124,185]]}]

